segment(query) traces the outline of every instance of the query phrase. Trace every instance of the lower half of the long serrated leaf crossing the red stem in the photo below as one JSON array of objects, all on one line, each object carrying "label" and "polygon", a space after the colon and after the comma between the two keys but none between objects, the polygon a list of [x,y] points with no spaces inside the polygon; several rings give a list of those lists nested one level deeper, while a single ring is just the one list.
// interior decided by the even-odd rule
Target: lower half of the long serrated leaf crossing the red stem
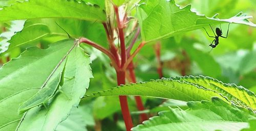
[{"label": "lower half of the long serrated leaf crossing the red stem", "polygon": [[203,87],[195,84],[173,79],[161,79],[121,85],[117,86],[116,88],[98,92],[86,97],[113,95],[149,96],[166,99],[178,99],[183,101],[210,100],[212,96],[220,96],[218,93],[204,89]]}]

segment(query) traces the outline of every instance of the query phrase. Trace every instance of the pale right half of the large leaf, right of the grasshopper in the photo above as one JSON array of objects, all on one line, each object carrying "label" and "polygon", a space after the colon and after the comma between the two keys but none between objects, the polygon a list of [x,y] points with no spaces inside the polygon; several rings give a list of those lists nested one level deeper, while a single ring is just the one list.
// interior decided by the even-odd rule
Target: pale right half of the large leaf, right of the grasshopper
[{"label": "pale right half of the large leaf, right of the grasshopper", "polygon": [[72,108],[78,106],[80,98],[89,87],[92,78],[90,63],[90,57],[76,46],[68,55],[64,83],[50,100],[49,107],[41,105],[31,108],[17,130],[55,130],[61,121],[67,119]]}]

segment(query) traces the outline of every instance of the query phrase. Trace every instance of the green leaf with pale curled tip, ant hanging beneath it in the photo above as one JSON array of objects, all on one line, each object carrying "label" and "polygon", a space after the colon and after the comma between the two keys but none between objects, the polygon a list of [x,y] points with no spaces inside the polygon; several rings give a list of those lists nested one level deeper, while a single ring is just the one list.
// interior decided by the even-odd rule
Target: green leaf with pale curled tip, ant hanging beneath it
[{"label": "green leaf with pale curled tip, ant hanging beneath it", "polygon": [[191,5],[184,8],[172,1],[141,1],[137,15],[142,39],[146,42],[172,37],[187,31],[201,29],[209,24],[237,23],[256,27],[241,12],[229,19],[209,18],[190,11]]}]

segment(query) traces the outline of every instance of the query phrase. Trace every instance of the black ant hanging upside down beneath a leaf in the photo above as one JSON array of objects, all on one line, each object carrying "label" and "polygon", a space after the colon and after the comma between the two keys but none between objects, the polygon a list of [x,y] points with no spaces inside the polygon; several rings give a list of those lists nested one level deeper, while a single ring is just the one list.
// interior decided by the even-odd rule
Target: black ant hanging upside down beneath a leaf
[{"label": "black ant hanging upside down beneath a leaf", "polygon": [[[229,25],[230,25],[230,23],[228,24],[228,29],[227,29],[227,34],[228,34],[228,30],[229,30]],[[209,24],[209,26],[210,26],[210,24]],[[204,27],[203,27],[204,28]],[[211,28],[211,26],[210,26],[210,28]],[[221,28],[221,24],[220,24],[220,28]],[[211,30],[212,30],[212,32],[214,32],[214,35],[215,36],[210,36],[209,34],[208,34],[208,32],[205,30],[205,28],[204,28],[204,30],[205,30],[205,32],[207,33],[207,35],[209,36],[209,37],[212,37],[212,38],[215,38],[212,42],[211,42],[211,44],[209,45],[211,48],[216,48],[217,47],[217,45],[219,44],[219,37],[222,37],[222,38],[227,38],[227,36],[225,37],[225,36],[222,36],[222,30],[220,29],[220,28],[216,28],[216,34],[215,34],[215,32],[214,32],[214,30],[211,28]],[[214,44],[212,44],[214,42]]]}]

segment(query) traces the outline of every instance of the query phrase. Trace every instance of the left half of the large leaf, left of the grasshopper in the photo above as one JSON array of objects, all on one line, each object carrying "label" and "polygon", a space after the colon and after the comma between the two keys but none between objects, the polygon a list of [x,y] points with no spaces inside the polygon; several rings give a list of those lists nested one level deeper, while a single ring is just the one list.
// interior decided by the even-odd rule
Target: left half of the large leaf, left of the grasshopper
[{"label": "left half of the large leaf, left of the grasshopper", "polygon": [[28,48],[18,58],[3,65],[0,69],[0,130],[16,128],[22,118],[18,114],[19,104],[61,72],[61,61],[73,46],[73,40],[62,40],[45,50]]}]

